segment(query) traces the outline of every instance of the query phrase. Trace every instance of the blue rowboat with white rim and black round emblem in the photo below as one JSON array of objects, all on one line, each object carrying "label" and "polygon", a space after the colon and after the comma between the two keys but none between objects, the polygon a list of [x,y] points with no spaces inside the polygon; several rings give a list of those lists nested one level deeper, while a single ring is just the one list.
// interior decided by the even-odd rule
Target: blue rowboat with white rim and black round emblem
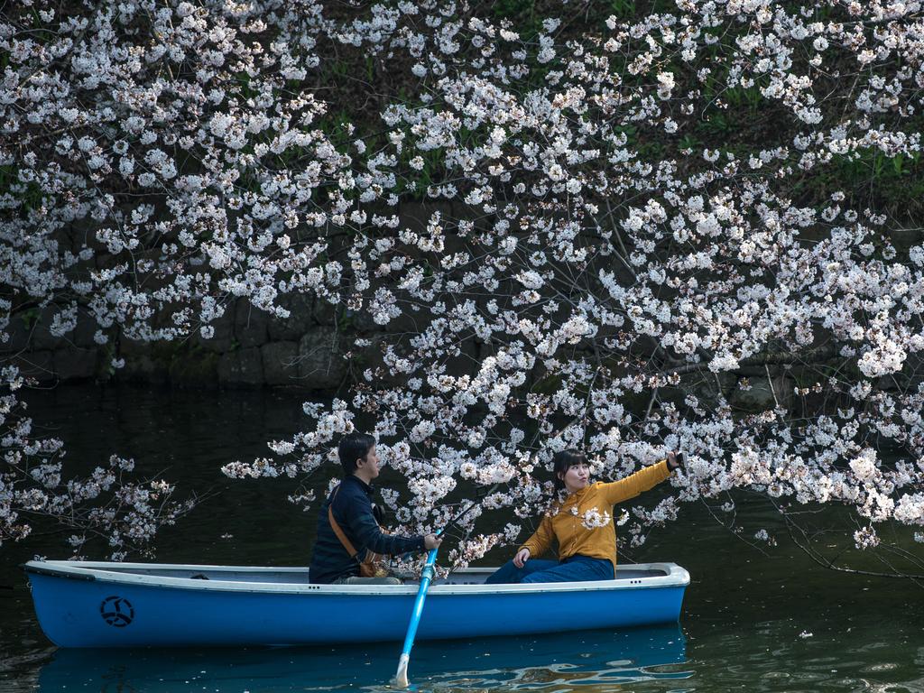
[{"label": "blue rowboat with white rim and black round emblem", "polygon": [[[311,585],[302,567],[30,561],[35,611],[59,647],[320,645],[405,636],[418,584]],[[433,581],[418,638],[480,638],[676,623],[689,574],[620,565],[612,580]]]}]

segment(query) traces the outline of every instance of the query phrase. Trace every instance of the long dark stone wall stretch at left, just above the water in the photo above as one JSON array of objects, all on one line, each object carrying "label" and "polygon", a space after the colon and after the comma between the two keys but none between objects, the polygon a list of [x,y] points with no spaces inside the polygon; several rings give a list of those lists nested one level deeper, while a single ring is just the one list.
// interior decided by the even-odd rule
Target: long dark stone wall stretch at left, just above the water
[{"label": "long dark stone wall stretch at left, just above the water", "polygon": [[[320,303],[320,302],[319,302]],[[293,297],[285,321],[253,309],[237,299],[225,315],[213,322],[214,334],[203,339],[193,334],[185,342],[141,343],[125,338],[117,344],[97,345],[90,320],[65,338],[48,332],[52,310],[43,311],[34,324],[23,324],[7,352],[20,371],[39,383],[119,380],[169,384],[175,387],[290,386],[335,390],[347,377],[381,359],[382,333],[361,331],[346,310],[310,297]],[[371,346],[359,349],[355,340],[365,337]],[[378,338],[377,338],[378,337]],[[112,368],[114,357],[125,366]]]}]

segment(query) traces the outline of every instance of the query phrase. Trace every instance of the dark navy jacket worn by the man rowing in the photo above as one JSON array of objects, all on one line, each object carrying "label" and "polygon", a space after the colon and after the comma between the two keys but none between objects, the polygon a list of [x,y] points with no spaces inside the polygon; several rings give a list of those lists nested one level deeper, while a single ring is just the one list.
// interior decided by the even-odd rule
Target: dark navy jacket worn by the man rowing
[{"label": "dark navy jacket worn by the man rowing", "polygon": [[361,561],[366,550],[373,553],[396,555],[423,551],[423,537],[398,537],[383,534],[372,514],[372,487],[365,481],[349,476],[340,482],[321,506],[318,517],[318,541],[311,555],[309,581],[330,584],[341,577],[359,576],[359,563],[349,553],[331,528],[327,508],[333,499],[334,519],[343,529],[346,538],[359,552]]}]

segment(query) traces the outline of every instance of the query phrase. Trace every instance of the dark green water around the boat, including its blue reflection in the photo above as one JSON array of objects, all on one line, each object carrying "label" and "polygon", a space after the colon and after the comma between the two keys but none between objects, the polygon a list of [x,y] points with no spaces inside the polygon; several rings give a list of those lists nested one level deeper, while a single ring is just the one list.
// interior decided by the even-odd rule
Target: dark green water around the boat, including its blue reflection
[{"label": "dark green water around the boat, including its blue reflection", "polygon": [[[222,494],[164,531],[157,559],[305,565],[314,518],[286,502],[290,480],[229,481],[219,467],[266,454],[298,431],[294,394],[59,388],[29,397],[75,463],[116,452],[180,491]],[[334,474],[334,468],[331,469]],[[326,485],[327,477],[317,486]],[[745,508],[755,519],[766,510]],[[769,517],[769,516],[768,516]],[[93,558],[103,557],[101,553]],[[0,548],[0,691],[385,690],[400,644],[325,649],[55,650],[32,613],[18,564],[65,554],[57,537]],[[505,553],[489,556],[496,564]],[[625,558],[626,556],[624,556]],[[689,570],[679,626],[540,638],[419,643],[411,681],[439,691],[924,691],[924,590],[849,577],[795,548],[764,555],[699,507],[631,558]],[[12,588],[12,589],[6,589]],[[575,614],[580,618],[580,614]],[[523,614],[541,618],[541,614]],[[310,626],[310,625],[309,625]]]}]

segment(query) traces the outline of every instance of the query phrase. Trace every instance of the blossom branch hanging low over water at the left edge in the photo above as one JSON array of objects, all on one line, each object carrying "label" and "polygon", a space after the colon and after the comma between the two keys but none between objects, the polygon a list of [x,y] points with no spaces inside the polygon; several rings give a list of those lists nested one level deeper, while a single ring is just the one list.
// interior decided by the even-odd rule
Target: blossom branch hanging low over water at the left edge
[{"label": "blossom branch hanging low over water at the left edge", "polygon": [[22,541],[35,528],[70,532],[73,558],[84,557],[85,544],[103,540],[114,561],[128,553],[152,555],[158,529],[174,525],[196,505],[196,499],[173,499],[174,487],[164,480],[130,481],[135,463],[110,457],[89,476],[65,479],[64,444],[36,438],[32,421],[18,401],[24,381],[12,367],[2,371],[0,396],[0,546]]}]

